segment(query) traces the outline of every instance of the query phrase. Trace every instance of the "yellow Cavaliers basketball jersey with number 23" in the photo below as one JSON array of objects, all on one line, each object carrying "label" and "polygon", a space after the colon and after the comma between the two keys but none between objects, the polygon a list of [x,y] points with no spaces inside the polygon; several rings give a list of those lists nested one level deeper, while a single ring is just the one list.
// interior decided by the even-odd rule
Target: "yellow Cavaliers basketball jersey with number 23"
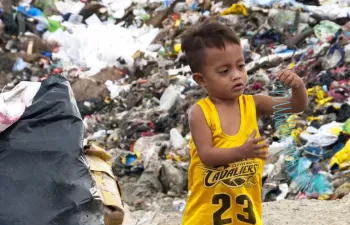
[{"label": "yellow Cavaliers basketball jersey with number 23", "polygon": [[[235,136],[225,134],[209,97],[197,102],[212,131],[213,145],[233,148],[244,144],[253,129],[260,136],[253,96],[241,95],[241,125]],[[262,225],[262,173],[264,161],[250,159],[230,165],[206,167],[190,140],[189,197],[183,225]]]}]

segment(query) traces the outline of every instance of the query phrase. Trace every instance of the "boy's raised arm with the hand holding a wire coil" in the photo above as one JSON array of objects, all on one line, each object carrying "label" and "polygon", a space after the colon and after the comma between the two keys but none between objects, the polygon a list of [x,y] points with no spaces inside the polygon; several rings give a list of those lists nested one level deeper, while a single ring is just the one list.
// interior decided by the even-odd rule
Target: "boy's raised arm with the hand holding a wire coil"
[{"label": "boy's raised arm with the hand holding a wire coil", "polygon": [[292,88],[292,97],[280,98],[278,101],[274,101],[271,96],[254,95],[258,117],[272,115],[274,111],[279,110],[273,108],[278,104],[283,104],[278,108],[291,108],[281,111],[282,113],[299,113],[307,108],[308,96],[303,80],[290,70],[282,70],[278,78],[283,84]]}]

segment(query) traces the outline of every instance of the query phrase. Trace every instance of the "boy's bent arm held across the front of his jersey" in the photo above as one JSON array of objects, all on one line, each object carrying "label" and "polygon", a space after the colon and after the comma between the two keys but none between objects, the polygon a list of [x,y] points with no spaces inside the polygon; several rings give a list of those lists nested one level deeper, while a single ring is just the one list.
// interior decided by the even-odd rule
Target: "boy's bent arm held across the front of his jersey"
[{"label": "boy's bent arm held across the front of his jersey", "polygon": [[212,133],[206,122],[202,109],[193,105],[189,111],[189,123],[193,142],[196,146],[199,158],[206,166],[228,165],[246,158],[266,158],[266,144],[258,142],[263,138],[256,138],[256,131],[248,138],[246,143],[237,148],[215,148],[213,146]]}]

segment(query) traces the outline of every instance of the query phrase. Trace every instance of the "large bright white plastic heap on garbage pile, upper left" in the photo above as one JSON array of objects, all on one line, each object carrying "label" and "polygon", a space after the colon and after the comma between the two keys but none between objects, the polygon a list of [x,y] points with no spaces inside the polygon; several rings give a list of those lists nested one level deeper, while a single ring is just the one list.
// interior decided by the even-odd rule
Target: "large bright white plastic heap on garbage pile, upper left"
[{"label": "large bright white plastic heap on garbage pile, upper left", "polygon": [[108,66],[119,66],[118,58],[124,59],[129,66],[133,65],[135,52],[146,50],[159,31],[146,25],[124,28],[119,24],[100,22],[87,27],[73,26],[69,31],[58,29],[43,36],[60,44],[54,58],[61,59],[64,64],[89,67],[91,69],[86,74],[94,75]]}]

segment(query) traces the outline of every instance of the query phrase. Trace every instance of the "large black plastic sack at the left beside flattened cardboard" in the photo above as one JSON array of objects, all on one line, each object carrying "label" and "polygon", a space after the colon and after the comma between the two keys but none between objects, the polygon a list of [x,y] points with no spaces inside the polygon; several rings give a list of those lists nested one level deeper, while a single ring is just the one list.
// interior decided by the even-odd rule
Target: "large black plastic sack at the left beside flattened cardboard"
[{"label": "large black plastic sack at the left beside flattened cardboard", "polygon": [[0,225],[103,225],[68,81],[52,76],[0,134]]}]

